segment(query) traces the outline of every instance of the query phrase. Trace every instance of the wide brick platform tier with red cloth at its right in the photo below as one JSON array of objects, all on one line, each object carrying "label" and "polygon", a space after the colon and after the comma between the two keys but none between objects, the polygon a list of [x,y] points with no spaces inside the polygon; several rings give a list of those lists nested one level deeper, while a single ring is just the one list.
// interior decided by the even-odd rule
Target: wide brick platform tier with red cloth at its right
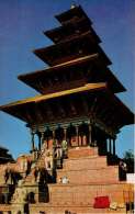
[{"label": "wide brick platform tier with red cloth at its right", "polygon": [[93,205],[95,196],[108,195],[111,202],[124,203],[124,183],[108,184],[49,184],[52,205]]}]

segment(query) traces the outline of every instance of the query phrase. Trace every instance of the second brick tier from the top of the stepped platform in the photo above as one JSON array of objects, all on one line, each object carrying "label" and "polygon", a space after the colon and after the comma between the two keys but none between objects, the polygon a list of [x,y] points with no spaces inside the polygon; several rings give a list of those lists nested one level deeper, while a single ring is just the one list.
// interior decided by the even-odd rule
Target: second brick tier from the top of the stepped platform
[{"label": "second brick tier from the top of the stepped platform", "polygon": [[63,168],[65,170],[81,170],[81,169],[95,169],[106,166],[105,156],[92,156],[92,157],[82,157],[74,159],[65,159]]}]

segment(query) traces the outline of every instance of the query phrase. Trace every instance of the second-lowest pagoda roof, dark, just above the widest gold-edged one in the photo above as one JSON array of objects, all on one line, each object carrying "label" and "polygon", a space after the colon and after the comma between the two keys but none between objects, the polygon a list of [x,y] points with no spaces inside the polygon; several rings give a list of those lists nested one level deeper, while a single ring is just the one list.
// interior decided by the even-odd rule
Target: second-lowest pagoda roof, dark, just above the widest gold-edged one
[{"label": "second-lowest pagoda roof, dark, just above the widest gold-edged one", "polygon": [[[72,79],[72,86],[70,80],[70,88],[88,82],[105,81],[114,93],[125,91],[110,68],[104,67],[99,54],[79,57],[43,70],[20,75],[18,78],[43,94],[68,89],[69,78]],[[77,79],[76,82],[75,79]]]}]

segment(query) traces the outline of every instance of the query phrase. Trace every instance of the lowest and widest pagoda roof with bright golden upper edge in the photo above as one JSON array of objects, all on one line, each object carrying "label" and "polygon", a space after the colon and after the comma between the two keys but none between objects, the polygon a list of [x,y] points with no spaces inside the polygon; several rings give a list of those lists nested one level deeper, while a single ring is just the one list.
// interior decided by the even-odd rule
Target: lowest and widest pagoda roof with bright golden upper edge
[{"label": "lowest and widest pagoda roof with bright golden upper edge", "polygon": [[115,131],[134,123],[133,113],[108,89],[105,82],[36,95],[0,106],[0,110],[29,124],[57,123],[59,120],[90,115]]}]

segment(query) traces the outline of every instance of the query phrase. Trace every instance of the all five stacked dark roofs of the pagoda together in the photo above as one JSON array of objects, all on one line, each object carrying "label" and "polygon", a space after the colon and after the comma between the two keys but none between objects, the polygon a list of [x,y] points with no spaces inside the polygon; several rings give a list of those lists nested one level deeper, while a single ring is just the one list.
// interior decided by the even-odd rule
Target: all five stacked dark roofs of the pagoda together
[{"label": "all five stacked dark roofs of the pagoda together", "polygon": [[125,88],[108,67],[111,60],[82,8],[56,19],[61,25],[44,32],[55,44],[34,50],[50,67],[19,76],[43,94],[0,109],[30,126],[79,116],[98,119],[114,133],[133,124],[133,113],[114,94]]}]

